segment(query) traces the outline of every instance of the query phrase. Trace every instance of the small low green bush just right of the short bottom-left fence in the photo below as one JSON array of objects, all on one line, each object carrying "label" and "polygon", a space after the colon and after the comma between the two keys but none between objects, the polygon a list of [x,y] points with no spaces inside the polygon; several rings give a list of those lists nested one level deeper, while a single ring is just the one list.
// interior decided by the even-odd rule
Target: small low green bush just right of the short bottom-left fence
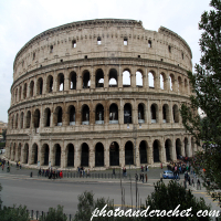
[{"label": "small low green bush just right of the short bottom-left fence", "polygon": [[63,212],[63,207],[59,204],[56,209],[49,208],[49,213],[41,217],[40,221],[67,221],[67,218]]}]

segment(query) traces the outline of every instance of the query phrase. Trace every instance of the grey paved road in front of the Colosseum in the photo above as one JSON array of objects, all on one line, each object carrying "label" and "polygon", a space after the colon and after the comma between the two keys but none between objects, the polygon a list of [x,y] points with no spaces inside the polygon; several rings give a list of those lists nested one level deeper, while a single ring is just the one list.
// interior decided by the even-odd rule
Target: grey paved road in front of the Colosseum
[{"label": "grey paved road in front of the Colosseum", "polygon": [[[33,177],[30,177],[30,172]],[[148,194],[154,191],[154,182],[159,180],[159,173],[162,170],[159,168],[150,169],[148,171],[148,182],[138,182],[139,199],[145,202]],[[97,171],[102,176],[104,171]],[[110,170],[105,171],[112,173]],[[136,170],[127,171],[131,173],[131,192],[133,204],[135,206],[135,182],[134,173]],[[50,207],[57,204],[64,206],[64,212],[74,214],[77,210],[77,196],[85,190],[91,190],[95,198],[109,198],[114,199],[115,204],[122,204],[122,189],[119,179],[94,179],[94,178],[67,178],[49,180],[45,177],[38,177],[38,170],[21,169],[17,170],[15,167],[11,168],[10,173],[6,170],[0,170],[0,182],[3,187],[1,192],[3,204],[12,206],[27,204],[30,210],[48,211]],[[107,177],[107,176],[106,176]],[[181,177],[181,181],[182,181]],[[167,183],[169,180],[165,180]],[[180,181],[180,182],[181,182]],[[123,179],[123,188],[125,189],[125,204],[131,204],[130,197],[130,181]],[[206,189],[197,190],[188,186],[196,197],[203,197],[207,203],[212,204],[212,209],[219,210],[217,202],[212,202],[210,196],[207,194]]]}]

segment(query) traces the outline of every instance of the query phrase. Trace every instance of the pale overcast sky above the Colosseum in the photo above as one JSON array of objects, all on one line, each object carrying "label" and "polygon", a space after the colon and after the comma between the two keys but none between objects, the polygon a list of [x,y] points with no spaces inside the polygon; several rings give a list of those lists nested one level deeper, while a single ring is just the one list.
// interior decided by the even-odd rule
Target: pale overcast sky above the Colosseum
[{"label": "pale overcast sky above the Colosseum", "polygon": [[145,29],[166,27],[182,36],[199,63],[198,22],[209,0],[0,0],[0,120],[8,122],[18,51],[36,34],[61,24],[90,19],[141,20]]}]

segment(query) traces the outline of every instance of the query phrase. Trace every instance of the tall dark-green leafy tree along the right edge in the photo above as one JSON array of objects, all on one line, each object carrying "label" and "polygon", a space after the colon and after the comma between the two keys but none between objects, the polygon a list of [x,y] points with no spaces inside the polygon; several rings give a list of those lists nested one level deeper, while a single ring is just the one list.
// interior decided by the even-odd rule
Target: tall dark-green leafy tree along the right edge
[{"label": "tall dark-green leafy tree along the right edge", "polygon": [[[199,22],[200,64],[194,65],[194,74],[188,72],[193,92],[191,105],[181,106],[181,116],[197,144],[203,144],[203,150],[196,154],[194,168],[207,189],[214,191],[221,189],[221,1],[211,0],[210,6],[213,10],[203,12]],[[199,108],[206,115],[202,119],[197,114]]]}]

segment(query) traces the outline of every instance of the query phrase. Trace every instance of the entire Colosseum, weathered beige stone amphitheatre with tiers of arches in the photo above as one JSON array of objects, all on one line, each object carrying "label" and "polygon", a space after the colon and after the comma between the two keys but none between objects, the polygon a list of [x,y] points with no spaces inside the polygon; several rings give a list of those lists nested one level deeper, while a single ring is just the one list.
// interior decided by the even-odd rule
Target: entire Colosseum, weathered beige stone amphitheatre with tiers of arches
[{"label": "entire Colosseum, weathered beige stone amphitheatre with tiers of arches", "polygon": [[197,150],[179,108],[192,54],[141,21],[67,23],[30,40],[13,63],[7,157],[27,167],[157,166]]}]

